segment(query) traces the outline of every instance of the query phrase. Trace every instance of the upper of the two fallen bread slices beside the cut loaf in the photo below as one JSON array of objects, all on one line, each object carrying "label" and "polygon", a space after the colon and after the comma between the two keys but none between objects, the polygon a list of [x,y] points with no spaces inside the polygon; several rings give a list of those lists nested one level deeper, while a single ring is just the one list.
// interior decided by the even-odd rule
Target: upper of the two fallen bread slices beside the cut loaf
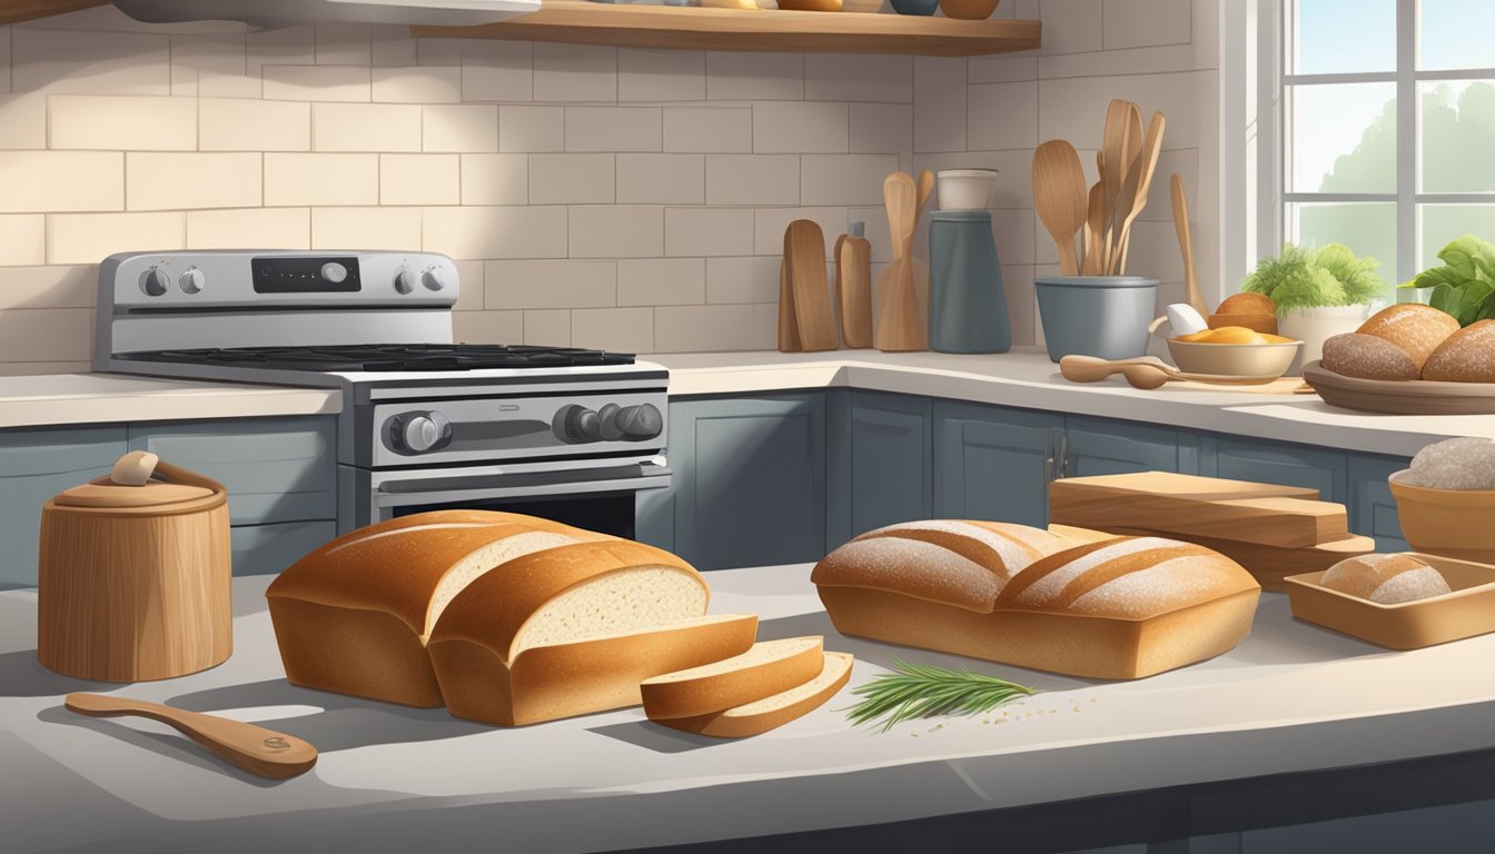
[{"label": "upper of the two fallen bread slices beside the cut loaf", "polygon": [[764,640],[742,655],[644,679],[638,686],[650,718],[692,718],[742,706],[815,678],[825,666],[822,637]]}]

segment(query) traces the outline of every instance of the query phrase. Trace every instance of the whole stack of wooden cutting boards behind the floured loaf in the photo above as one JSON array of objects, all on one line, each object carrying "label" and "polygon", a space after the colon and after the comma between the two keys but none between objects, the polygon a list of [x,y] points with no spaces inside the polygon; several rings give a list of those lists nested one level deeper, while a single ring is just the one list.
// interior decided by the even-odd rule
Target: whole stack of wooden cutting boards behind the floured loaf
[{"label": "whole stack of wooden cutting boards behind the floured loaf", "polygon": [[1350,532],[1344,504],[1320,501],[1317,489],[1166,471],[1055,480],[1048,516],[1055,525],[1197,543],[1268,591],[1283,591],[1284,576],[1375,550],[1375,540]]}]

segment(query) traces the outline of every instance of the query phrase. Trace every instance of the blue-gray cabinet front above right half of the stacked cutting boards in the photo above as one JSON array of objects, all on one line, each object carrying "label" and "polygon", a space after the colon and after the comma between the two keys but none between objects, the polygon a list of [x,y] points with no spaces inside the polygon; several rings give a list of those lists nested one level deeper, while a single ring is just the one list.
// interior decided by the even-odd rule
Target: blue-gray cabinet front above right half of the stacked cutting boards
[{"label": "blue-gray cabinet front above right half of the stacked cutting boards", "polygon": [[1200,474],[1226,480],[1317,489],[1323,501],[1348,501],[1348,471],[1341,450],[1286,441],[1203,434]]}]

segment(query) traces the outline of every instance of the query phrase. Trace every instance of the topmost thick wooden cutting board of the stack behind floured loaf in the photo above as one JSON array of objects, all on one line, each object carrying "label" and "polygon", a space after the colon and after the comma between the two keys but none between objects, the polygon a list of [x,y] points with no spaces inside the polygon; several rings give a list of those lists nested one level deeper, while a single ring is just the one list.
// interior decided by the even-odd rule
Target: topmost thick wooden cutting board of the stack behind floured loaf
[{"label": "topmost thick wooden cutting board of the stack behind floured loaf", "polygon": [[[1262,486],[1272,485],[1157,474],[1165,473],[1057,480],[1049,486],[1049,519],[1082,528],[1123,525],[1284,549],[1350,537],[1344,506],[1319,501],[1311,489],[1301,491],[1308,497],[1260,495]],[[1168,482],[1178,483],[1180,491],[1159,486]],[[1235,494],[1248,497],[1220,497]]]}]

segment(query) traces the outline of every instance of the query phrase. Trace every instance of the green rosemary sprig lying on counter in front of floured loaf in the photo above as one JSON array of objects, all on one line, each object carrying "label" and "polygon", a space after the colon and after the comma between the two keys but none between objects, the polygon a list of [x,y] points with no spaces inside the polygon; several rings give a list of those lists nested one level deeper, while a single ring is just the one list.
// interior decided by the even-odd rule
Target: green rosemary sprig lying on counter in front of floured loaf
[{"label": "green rosemary sprig lying on counter in front of floured loaf", "polygon": [[893,660],[893,670],[894,673],[852,688],[852,694],[866,697],[846,713],[852,724],[861,725],[887,715],[888,721],[882,727],[887,733],[894,724],[909,718],[975,715],[1033,694],[1032,688],[970,670],[909,664],[898,658]]}]

